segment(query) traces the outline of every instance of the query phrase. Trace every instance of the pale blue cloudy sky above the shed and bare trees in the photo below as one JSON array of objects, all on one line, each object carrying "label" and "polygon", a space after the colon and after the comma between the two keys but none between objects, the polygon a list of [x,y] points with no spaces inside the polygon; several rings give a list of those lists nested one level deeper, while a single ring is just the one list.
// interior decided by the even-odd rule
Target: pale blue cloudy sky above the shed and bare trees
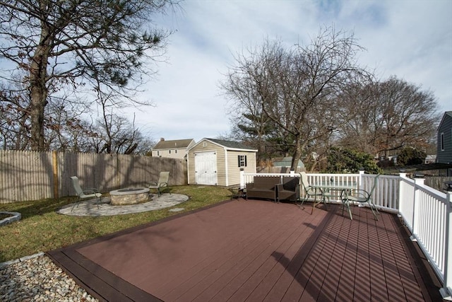
[{"label": "pale blue cloudy sky above the shed and bare trees", "polygon": [[352,31],[365,48],[359,64],[379,79],[432,91],[442,115],[452,110],[451,16],[451,0],[186,0],[155,18],[173,31],[166,62],[138,95],[155,107],[126,115],[155,141],[226,136],[230,103],[219,85],[234,55],[265,39],[306,46],[326,26]]}]

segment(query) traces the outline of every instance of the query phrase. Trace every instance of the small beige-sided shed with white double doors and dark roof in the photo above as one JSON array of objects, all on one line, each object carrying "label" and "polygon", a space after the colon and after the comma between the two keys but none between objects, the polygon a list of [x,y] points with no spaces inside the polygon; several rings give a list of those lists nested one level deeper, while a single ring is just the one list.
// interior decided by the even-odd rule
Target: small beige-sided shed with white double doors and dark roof
[{"label": "small beige-sided shed with white double doors and dark roof", "polygon": [[189,185],[239,185],[241,168],[256,173],[256,152],[237,141],[201,139],[187,156]]}]

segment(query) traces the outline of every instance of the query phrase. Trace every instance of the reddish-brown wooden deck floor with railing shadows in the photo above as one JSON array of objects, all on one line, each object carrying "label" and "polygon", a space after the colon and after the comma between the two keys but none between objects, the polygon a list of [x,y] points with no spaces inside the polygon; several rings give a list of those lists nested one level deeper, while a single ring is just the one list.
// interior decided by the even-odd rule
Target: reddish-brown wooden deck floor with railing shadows
[{"label": "reddish-brown wooden deck floor with railing shadows", "polygon": [[395,214],[249,199],[48,252],[105,301],[441,301]]}]

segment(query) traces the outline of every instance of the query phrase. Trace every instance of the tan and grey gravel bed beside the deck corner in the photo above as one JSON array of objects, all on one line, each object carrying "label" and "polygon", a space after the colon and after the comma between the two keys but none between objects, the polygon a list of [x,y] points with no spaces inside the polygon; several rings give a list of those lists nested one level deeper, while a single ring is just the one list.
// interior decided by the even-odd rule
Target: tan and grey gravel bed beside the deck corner
[{"label": "tan and grey gravel bed beside the deck corner", "polygon": [[97,301],[40,253],[0,263],[0,301]]}]

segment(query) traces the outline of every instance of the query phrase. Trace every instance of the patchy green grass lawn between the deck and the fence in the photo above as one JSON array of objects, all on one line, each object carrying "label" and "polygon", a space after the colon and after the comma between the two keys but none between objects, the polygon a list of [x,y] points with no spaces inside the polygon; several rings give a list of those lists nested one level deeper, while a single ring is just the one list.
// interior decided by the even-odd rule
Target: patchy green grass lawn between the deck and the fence
[{"label": "patchy green grass lawn between the deck and the fence", "polygon": [[[171,187],[172,193],[186,194],[189,200],[175,207],[192,211],[230,198],[225,187],[181,186]],[[0,262],[62,248],[83,240],[157,221],[181,212],[171,208],[117,216],[66,216],[57,214],[65,204],[76,197],[44,199],[33,202],[0,204],[0,211],[22,214],[20,221],[0,226]]]}]

